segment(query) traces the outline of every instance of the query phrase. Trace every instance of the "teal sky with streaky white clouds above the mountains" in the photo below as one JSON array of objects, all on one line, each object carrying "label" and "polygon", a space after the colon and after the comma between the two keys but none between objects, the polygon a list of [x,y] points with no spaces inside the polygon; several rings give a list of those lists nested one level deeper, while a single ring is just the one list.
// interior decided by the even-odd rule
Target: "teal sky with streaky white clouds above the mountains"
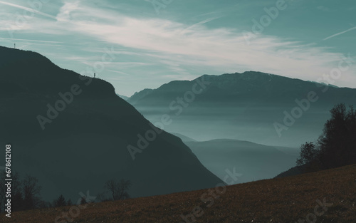
[{"label": "teal sky with streaky white clouds above the mountains", "polygon": [[0,46],[121,95],[244,71],[320,81],[343,60],[333,84],[356,88],[355,0],[0,0],[0,22]]}]

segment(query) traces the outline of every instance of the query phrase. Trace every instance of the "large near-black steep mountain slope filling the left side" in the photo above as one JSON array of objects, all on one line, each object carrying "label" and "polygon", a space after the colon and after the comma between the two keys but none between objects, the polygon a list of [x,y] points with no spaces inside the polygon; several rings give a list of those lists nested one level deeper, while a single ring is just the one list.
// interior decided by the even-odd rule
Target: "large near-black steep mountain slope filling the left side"
[{"label": "large near-black steep mountain slope filling the left side", "polygon": [[[106,81],[59,68],[38,53],[0,47],[0,90],[0,145],[12,145],[13,170],[38,177],[43,199],[95,195],[115,177],[131,180],[132,197],[221,182],[179,138],[155,134]],[[132,160],[127,146],[140,147],[138,135],[147,133],[156,139]]]}]

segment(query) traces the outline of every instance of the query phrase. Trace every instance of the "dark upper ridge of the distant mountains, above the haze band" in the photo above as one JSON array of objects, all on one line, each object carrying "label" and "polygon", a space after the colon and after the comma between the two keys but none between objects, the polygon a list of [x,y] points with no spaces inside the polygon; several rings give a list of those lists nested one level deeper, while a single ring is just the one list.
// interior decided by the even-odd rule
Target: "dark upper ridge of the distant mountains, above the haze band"
[{"label": "dark upper ridge of the distant mountains, above the haze band", "polygon": [[[197,95],[194,102],[205,103],[242,103],[242,102],[269,102],[290,103],[298,97],[306,96],[310,91],[320,92],[325,88],[325,83],[317,84],[313,81],[302,81],[299,79],[286,78],[270,73],[246,71],[244,73],[226,73],[221,76],[204,75],[193,81],[172,81],[157,89],[145,89],[130,97],[129,102],[137,105],[152,103],[167,103],[183,96],[187,91],[192,91],[197,80],[209,82],[206,84],[204,93]],[[355,94],[355,89],[330,88],[326,95]],[[338,98],[321,98],[324,103],[337,102]],[[336,99],[336,101],[335,101]],[[164,104],[165,105],[165,104]]]}]

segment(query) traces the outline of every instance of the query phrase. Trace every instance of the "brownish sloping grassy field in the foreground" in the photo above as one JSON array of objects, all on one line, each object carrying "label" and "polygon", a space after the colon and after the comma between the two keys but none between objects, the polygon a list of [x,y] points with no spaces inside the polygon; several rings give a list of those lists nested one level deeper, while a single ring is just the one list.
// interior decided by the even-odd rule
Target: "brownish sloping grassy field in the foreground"
[{"label": "brownish sloping grassy field in the foreground", "polygon": [[[225,188],[89,204],[80,213],[75,210],[14,212],[11,219],[1,214],[1,222],[56,222],[56,217],[70,212],[78,217],[63,222],[355,223],[356,165]],[[188,217],[186,221],[182,215]]]}]

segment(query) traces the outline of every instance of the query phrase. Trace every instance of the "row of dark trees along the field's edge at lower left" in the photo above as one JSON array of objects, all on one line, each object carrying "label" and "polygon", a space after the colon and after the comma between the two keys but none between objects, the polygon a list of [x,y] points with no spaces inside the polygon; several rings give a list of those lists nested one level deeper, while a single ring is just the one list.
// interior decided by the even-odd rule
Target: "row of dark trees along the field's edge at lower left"
[{"label": "row of dark trees along the field's edge at lower left", "polygon": [[[4,212],[6,204],[6,173],[0,172],[0,213]],[[99,202],[108,200],[128,199],[130,195],[128,191],[132,183],[130,180],[108,180],[103,185],[105,192],[97,196]],[[41,199],[41,186],[38,184],[38,179],[31,175],[26,175],[22,180],[18,172],[13,172],[11,181],[11,212],[19,212],[28,209],[48,208],[48,207],[63,207],[76,205],[70,199],[66,199],[63,195],[52,202],[45,202]],[[79,200],[78,200],[79,202]],[[80,204],[86,204],[86,198],[80,199]]]}]

